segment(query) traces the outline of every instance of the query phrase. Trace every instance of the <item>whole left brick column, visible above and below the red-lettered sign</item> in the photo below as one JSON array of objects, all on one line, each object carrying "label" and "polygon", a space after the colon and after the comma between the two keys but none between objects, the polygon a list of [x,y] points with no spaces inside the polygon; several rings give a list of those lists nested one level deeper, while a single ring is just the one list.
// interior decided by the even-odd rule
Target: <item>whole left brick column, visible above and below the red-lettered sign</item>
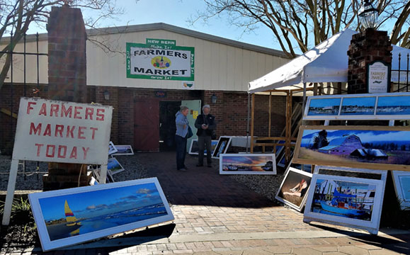
[{"label": "whole left brick column, visible above and below the red-lettered sign", "polygon": [[[86,103],[86,28],[81,10],[52,7],[47,31],[48,98]],[[87,186],[90,179],[86,165],[51,162],[42,176],[43,190]]]}]

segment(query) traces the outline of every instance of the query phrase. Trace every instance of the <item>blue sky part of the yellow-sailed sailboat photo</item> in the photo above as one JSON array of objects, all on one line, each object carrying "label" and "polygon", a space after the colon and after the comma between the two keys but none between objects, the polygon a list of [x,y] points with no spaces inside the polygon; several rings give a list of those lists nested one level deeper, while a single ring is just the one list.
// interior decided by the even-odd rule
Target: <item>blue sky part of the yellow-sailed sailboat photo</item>
[{"label": "blue sky part of the yellow-sailed sailboat photo", "polygon": [[45,220],[65,218],[64,202],[66,199],[69,208],[77,219],[81,217],[96,217],[162,202],[159,191],[154,183],[137,184],[65,196],[40,198],[39,203],[42,208],[43,218]]}]

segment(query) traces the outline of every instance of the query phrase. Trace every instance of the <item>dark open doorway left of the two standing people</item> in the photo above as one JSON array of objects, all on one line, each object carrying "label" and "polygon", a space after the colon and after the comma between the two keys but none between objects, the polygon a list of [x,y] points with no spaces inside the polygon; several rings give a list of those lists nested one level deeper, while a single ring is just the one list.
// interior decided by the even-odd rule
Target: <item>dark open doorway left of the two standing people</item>
[{"label": "dark open doorway left of the two standing people", "polygon": [[159,151],[175,150],[175,115],[181,101],[159,101]]}]

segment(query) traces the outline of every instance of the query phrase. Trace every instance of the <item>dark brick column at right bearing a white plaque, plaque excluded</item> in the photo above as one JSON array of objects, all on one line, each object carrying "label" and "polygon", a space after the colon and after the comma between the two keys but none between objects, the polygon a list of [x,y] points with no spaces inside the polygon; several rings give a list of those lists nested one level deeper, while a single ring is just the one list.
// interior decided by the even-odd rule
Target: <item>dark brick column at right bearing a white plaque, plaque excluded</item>
[{"label": "dark brick column at right bearing a white plaque, plaque excluded", "polygon": [[368,93],[368,64],[377,60],[392,64],[392,50],[387,31],[369,28],[353,35],[348,50],[348,94]]}]

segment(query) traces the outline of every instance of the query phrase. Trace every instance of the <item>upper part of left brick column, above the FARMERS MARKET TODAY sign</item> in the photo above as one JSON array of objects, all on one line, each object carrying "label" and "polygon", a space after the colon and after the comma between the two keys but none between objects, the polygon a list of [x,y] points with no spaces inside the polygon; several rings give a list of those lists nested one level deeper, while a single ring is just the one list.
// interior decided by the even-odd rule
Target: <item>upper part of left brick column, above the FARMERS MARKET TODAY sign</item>
[{"label": "upper part of left brick column, above the FARMERS MARKET TODAY sign", "polygon": [[48,31],[48,96],[86,103],[86,28],[79,8],[52,7]]}]

